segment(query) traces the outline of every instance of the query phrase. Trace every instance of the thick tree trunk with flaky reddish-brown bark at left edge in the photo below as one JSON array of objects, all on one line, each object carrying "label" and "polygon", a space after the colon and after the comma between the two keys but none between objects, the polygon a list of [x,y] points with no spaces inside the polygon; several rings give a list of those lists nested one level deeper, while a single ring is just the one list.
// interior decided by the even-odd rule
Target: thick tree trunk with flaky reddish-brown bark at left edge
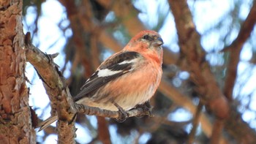
[{"label": "thick tree trunk with flaky reddish-brown bark at left edge", "polygon": [[26,87],[22,1],[0,1],[0,143],[36,143]]}]

